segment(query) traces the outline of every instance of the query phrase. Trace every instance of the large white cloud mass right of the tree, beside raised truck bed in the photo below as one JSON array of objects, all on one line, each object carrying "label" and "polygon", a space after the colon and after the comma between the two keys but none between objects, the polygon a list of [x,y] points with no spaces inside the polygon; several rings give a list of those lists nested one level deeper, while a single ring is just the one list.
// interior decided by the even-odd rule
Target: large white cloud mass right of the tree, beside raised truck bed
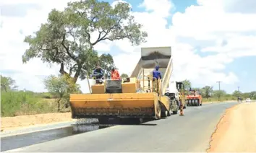
[{"label": "large white cloud mass right of the tree, beside raised truck bed", "polygon": [[[161,5],[163,4],[161,2],[154,1],[152,4],[152,1],[144,1],[141,6],[145,6],[148,11],[155,12],[161,9],[169,12],[171,7]],[[166,29],[166,15],[135,12],[137,21],[145,25],[144,29],[149,35],[148,43],[142,46],[171,45],[176,79],[191,79],[197,84],[213,84],[217,80],[222,80],[226,84],[239,82],[239,78],[233,72],[227,70],[228,72],[224,73],[224,70],[226,64],[230,64],[235,58],[256,56],[255,43],[252,43],[256,35],[244,35],[244,32],[255,32],[256,22],[252,22],[252,19],[256,14],[228,13],[225,10],[228,6],[226,2],[229,1],[201,0],[200,6],[189,6],[186,12],[174,14],[173,25],[168,29]],[[184,43],[185,41],[178,40],[178,37],[193,38],[199,42],[202,40],[213,42],[213,45],[203,47],[201,52],[215,52],[216,55],[202,57],[195,52],[195,41]],[[127,42],[118,45],[124,46],[124,44],[127,46]],[[133,67],[127,68],[124,64],[122,68]]]}]

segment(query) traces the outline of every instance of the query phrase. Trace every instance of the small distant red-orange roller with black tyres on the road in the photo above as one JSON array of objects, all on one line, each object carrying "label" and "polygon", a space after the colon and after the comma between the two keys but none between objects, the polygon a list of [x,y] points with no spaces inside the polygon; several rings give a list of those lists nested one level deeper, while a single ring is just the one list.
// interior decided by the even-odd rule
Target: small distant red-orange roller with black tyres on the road
[{"label": "small distant red-orange roller with black tyres on the road", "polygon": [[186,100],[187,100],[187,106],[202,105],[202,95],[199,91],[196,91],[195,89],[189,89]]}]

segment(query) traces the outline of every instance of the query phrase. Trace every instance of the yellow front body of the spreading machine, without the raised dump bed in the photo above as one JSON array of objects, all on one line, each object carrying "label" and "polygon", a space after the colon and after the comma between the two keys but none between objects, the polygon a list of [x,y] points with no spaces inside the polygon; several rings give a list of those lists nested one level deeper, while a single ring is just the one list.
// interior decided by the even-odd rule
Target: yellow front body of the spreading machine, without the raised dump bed
[{"label": "yellow front body of the spreading machine, without the raised dump bed", "polygon": [[123,93],[106,94],[104,84],[96,84],[92,86],[92,94],[70,95],[72,115],[74,118],[160,118],[155,116],[157,93],[136,93],[135,78],[121,85]]}]

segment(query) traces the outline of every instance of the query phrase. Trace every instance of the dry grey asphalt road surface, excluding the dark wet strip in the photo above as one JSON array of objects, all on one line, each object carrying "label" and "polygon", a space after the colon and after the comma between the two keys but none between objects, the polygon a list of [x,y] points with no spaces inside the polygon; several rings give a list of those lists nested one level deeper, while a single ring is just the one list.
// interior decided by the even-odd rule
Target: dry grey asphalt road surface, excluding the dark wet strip
[{"label": "dry grey asphalt road surface, excluding the dark wet strip", "polygon": [[188,107],[184,116],[103,128],[7,152],[205,152],[221,115],[236,104]]}]

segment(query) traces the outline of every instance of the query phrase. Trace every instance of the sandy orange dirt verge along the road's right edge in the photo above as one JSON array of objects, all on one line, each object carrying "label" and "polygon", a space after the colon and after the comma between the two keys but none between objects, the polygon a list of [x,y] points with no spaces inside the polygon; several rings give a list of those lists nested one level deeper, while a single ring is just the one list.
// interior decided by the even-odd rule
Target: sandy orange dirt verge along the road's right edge
[{"label": "sandy orange dirt verge along the road's right edge", "polygon": [[207,152],[256,152],[256,102],[244,102],[226,110]]}]

